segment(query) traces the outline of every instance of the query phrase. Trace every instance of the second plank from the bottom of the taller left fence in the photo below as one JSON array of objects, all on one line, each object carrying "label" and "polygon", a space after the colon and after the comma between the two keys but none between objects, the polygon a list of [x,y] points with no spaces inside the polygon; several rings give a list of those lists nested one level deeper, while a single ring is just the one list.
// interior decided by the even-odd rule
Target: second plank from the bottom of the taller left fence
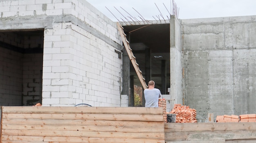
[{"label": "second plank from the bottom of the taller left fence", "polygon": [[53,130],[5,130],[2,135],[16,136],[54,136],[54,137],[105,137],[130,139],[164,139],[164,134],[144,132],[88,132],[88,131],[53,131]]}]

